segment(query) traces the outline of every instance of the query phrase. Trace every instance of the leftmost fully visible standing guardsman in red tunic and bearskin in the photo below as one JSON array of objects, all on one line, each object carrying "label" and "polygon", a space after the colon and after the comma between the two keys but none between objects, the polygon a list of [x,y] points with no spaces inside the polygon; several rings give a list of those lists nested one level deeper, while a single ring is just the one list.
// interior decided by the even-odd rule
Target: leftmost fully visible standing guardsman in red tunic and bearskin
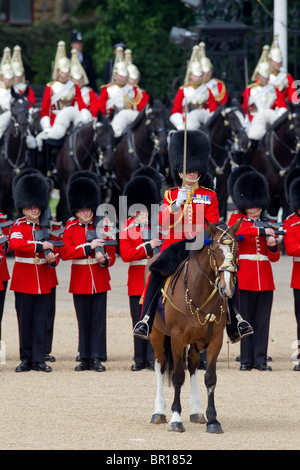
[{"label": "leftmost fully visible standing guardsman in red tunic and bearskin", "polygon": [[15,254],[10,289],[15,292],[21,364],[16,372],[52,369],[45,363],[50,266],[56,265],[51,241],[37,241],[40,216],[48,208],[48,184],[37,170],[19,173],[14,185],[16,209],[23,213],[11,228],[10,248]]}]

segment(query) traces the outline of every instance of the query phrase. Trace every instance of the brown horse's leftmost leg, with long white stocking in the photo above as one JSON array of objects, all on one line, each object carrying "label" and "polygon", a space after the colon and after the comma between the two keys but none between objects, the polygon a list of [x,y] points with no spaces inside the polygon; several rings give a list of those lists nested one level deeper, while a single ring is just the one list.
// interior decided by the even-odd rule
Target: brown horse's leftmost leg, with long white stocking
[{"label": "brown horse's leftmost leg, with long white stocking", "polygon": [[155,373],[156,373],[156,397],[155,409],[151,417],[151,423],[166,423],[166,400],[163,392],[163,377],[165,371],[166,358],[164,355],[164,334],[155,327],[151,332],[151,344],[155,352]]}]

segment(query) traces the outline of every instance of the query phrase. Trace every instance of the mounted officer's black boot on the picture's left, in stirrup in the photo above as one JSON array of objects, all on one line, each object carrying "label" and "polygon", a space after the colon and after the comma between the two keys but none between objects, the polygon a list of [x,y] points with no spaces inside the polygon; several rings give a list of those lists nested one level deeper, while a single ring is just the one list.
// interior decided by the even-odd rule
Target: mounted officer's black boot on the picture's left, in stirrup
[{"label": "mounted officer's black boot on the picture's left, in stirrup", "polygon": [[152,325],[157,310],[158,299],[161,295],[161,288],[166,276],[157,271],[152,271],[149,275],[148,285],[143,302],[143,318],[133,328],[133,335],[139,338],[149,339]]}]

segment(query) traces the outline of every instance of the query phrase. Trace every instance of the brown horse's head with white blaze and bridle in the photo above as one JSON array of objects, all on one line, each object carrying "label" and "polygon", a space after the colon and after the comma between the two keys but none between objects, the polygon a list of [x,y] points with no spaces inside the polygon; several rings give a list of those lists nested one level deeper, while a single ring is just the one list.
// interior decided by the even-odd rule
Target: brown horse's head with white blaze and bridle
[{"label": "brown horse's head with white blaze and bridle", "polygon": [[218,281],[219,293],[223,298],[231,298],[234,294],[238,252],[235,234],[241,223],[242,219],[239,219],[234,225],[228,227],[225,223],[214,225],[206,221],[211,235],[208,248],[211,257],[210,264]]}]

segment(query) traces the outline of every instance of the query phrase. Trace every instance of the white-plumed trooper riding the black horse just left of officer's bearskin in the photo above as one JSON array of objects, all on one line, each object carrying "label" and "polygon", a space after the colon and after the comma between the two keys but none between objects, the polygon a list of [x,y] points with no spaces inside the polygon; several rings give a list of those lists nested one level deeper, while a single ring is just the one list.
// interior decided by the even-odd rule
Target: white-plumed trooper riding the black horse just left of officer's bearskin
[{"label": "white-plumed trooper riding the black horse just left of officer's bearskin", "polygon": [[112,118],[111,125],[115,137],[119,138],[148,103],[141,89],[128,81],[128,69],[122,47],[116,50],[112,82],[101,88],[99,109],[102,114]]}]

